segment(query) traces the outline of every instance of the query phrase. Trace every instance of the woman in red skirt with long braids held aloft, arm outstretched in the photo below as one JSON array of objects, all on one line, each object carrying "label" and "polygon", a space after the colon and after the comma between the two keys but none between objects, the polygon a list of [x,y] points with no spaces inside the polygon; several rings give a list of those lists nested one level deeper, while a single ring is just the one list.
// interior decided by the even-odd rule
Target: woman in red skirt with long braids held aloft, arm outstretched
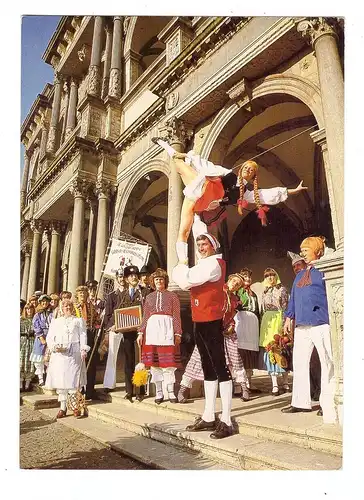
[{"label": "woman in red skirt with long braids held aloft, arm outstretched", "polygon": [[[211,161],[201,158],[200,155],[189,151],[179,153],[167,142],[158,137],[153,137],[152,141],[161,146],[173,159],[178,173],[181,175],[185,185],[183,193],[185,198],[181,210],[181,222],[176,243],[177,256],[181,263],[187,262],[187,240],[191,232],[192,224],[196,214],[203,214],[207,211],[216,211],[216,217],[204,220],[208,225],[221,220],[225,212],[225,205],[237,203],[238,212],[243,214],[243,209],[249,203],[257,206],[257,215],[266,225],[266,205],[276,205],[283,202],[289,195],[300,193],[307,189],[303,186],[303,181],[294,189],[276,187],[270,189],[258,189],[257,171],[258,164],[248,160],[240,168],[238,176],[231,170],[220,165],[215,165]],[[253,183],[253,191],[246,189],[247,184]]]}]

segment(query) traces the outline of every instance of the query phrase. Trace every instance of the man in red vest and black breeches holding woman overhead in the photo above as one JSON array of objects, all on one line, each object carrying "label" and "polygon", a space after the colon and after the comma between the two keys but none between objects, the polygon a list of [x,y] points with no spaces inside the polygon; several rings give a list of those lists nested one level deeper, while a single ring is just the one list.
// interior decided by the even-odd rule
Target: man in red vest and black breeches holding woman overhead
[{"label": "man in red vest and black breeches holding woman overhead", "polygon": [[[222,318],[224,309],[225,262],[217,253],[219,242],[209,234],[196,238],[200,259],[193,267],[180,261],[173,269],[172,278],[183,290],[191,291],[192,320],[195,340],[204,372],[205,409],[186,430],[212,430],[210,437],[221,439],[232,434],[231,398],[232,377],[226,365]],[[219,385],[222,415],[215,420],[215,403]]]}]

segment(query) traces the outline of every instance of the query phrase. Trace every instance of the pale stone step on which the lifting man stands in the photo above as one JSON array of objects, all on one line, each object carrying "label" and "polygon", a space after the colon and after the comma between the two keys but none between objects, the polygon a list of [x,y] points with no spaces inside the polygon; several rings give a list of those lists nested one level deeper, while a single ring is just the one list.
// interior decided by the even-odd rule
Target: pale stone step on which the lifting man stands
[{"label": "pale stone step on which the lifting man stands", "polygon": [[[127,401],[126,401],[127,402]],[[146,406],[146,405],[145,405]],[[99,420],[138,436],[201,454],[224,468],[237,470],[337,470],[341,458],[332,454],[301,448],[294,444],[267,441],[235,434],[215,441],[210,432],[185,430],[191,419],[172,418],[144,409],[143,403],[93,404],[88,407],[90,420]]]}]

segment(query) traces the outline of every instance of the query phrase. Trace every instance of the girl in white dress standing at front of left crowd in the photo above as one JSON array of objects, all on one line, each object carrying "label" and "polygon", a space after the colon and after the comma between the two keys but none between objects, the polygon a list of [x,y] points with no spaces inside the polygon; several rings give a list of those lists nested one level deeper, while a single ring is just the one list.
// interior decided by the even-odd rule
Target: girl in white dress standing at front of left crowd
[{"label": "girl in white dress standing at front of left crowd", "polygon": [[[67,413],[67,395],[86,386],[86,366],[84,360],[90,347],[87,345],[86,324],[76,318],[73,303],[69,299],[62,302],[63,316],[53,319],[50,324],[47,344],[51,352],[47,371],[46,386],[56,389],[60,410],[57,418]],[[79,417],[80,411],[74,410]]]}]

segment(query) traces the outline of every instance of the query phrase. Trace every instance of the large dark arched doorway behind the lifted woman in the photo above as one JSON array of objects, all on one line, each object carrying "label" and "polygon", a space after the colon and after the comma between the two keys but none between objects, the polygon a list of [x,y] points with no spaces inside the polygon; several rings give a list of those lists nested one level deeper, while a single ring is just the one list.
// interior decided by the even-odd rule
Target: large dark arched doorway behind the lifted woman
[{"label": "large dark arched doorway behind the lifted woman", "polygon": [[[236,207],[228,207],[225,230],[220,228],[224,246],[228,247],[225,253],[229,271],[248,265],[254,271],[254,280],[260,281],[264,268],[269,265],[276,267],[282,273],[282,280],[290,285],[293,275],[287,250],[298,252],[300,241],[310,234],[323,234],[329,246],[333,246],[334,240],[322,155],[317,153],[310,137],[310,133],[317,130],[318,121],[321,122],[319,94],[312,98],[317,89],[307,84],[314,104],[307,96],[303,102],[293,92],[285,93],[283,82],[279,88],[280,79],[294,80],[297,88],[301,85],[300,94],[304,95],[306,83],[301,78],[268,77],[256,85],[246,104],[239,107],[230,103],[221,110],[201,155],[228,168],[256,158],[260,165],[260,188],[293,188],[300,180],[304,181],[307,192],[270,208],[267,227],[260,226],[256,214],[250,213],[255,207],[250,205],[243,219]],[[312,104],[312,108],[308,104]],[[271,150],[276,145],[279,147]]]}]

